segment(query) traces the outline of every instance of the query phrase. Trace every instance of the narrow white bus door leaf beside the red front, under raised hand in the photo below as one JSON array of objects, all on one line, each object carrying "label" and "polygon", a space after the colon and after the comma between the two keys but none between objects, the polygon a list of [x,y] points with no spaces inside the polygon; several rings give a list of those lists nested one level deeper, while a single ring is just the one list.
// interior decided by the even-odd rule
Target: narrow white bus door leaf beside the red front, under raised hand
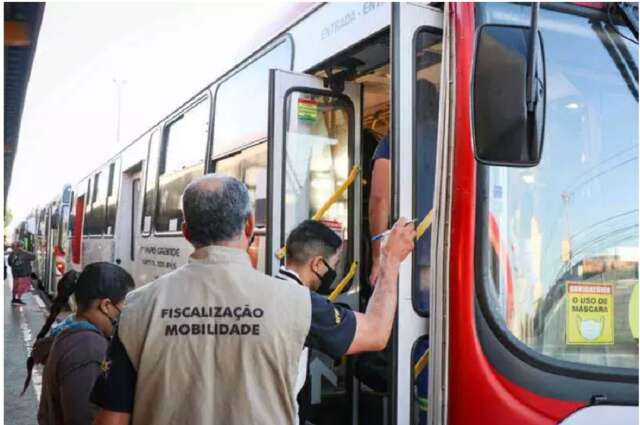
[{"label": "narrow white bus door leaf beside the red front, under raised hand", "polygon": [[[415,218],[421,235],[399,275],[393,418],[397,424],[426,424],[440,403],[430,377],[444,373],[434,363],[442,355],[436,347],[439,335],[429,332],[430,321],[434,326],[445,318],[431,267],[443,13],[426,5],[393,3],[391,16],[393,215]],[[443,388],[442,381],[437,388]]]}]

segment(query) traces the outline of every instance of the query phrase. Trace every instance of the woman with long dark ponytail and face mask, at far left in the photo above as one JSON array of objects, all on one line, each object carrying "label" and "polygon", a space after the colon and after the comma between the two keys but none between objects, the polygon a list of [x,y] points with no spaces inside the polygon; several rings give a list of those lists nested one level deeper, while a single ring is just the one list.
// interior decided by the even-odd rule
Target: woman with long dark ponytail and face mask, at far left
[{"label": "woman with long dark ponytail and face mask, at far left", "polygon": [[[27,360],[25,390],[33,364],[45,365],[38,409],[40,425],[93,423],[97,408],[89,402],[89,393],[102,371],[124,298],[133,287],[129,273],[105,262],[89,264],[80,274],[71,271],[62,277],[51,314]],[[72,295],[75,313],[51,328]]]}]

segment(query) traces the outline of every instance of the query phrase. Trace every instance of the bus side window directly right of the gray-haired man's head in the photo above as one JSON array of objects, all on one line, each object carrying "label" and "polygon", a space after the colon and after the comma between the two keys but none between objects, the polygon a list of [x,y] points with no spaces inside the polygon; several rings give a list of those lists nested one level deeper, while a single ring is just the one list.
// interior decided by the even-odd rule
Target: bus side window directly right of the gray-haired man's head
[{"label": "bus side window directly right of the gray-haired man's head", "polygon": [[253,266],[266,269],[267,255],[267,144],[260,143],[215,162],[215,172],[241,180],[249,190],[255,215],[255,240],[249,248]]}]

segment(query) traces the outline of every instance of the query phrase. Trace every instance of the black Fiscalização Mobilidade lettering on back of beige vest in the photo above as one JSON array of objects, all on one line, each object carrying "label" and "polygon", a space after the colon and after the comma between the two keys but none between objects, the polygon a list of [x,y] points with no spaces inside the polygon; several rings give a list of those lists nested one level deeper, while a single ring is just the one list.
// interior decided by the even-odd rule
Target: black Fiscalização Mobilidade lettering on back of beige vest
[{"label": "black Fiscaliza\u00e7\u00e3o Mobilidade lettering on back of beige vest", "polygon": [[214,318],[231,319],[240,323],[168,323],[165,325],[165,336],[177,335],[260,335],[260,323],[246,323],[247,319],[260,319],[264,310],[251,308],[248,304],[242,307],[174,307],[160,310],[161,319]]}]

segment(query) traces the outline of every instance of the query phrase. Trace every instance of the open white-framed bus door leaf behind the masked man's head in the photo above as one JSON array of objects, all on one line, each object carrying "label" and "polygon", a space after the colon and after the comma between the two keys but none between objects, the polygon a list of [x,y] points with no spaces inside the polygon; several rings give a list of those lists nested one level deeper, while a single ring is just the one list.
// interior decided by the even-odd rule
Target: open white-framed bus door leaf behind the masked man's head
[{"label": "open white-framed bus door leaf behind the masked man's head", "polygon": [[[303,220],[320,220],[344,240],[336,284],[348,283],[336,302],[359,310],[361,86],[343,84],[332,90],[311,75],[270,71],[267,273],[283,264],[289,232]],[[358,423],[352,360],[312,351],[308,370],[299,397],[305,418]]]}]

